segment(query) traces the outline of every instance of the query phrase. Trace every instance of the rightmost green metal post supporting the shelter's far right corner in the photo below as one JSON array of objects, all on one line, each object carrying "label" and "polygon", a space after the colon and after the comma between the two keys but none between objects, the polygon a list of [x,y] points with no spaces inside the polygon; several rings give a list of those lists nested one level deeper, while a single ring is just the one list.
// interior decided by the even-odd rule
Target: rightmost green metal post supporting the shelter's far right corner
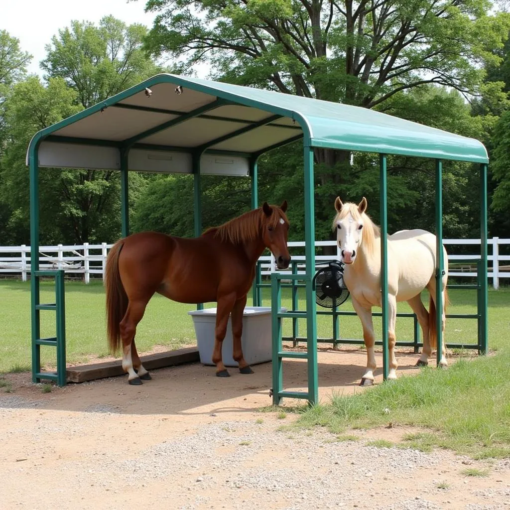
[{"label": "rightmost green metal post supporting the shelter's far right corner", "polygon": [[481,256],[481,275],[480,275],[480,354],[487,354],[489,350],[489,325],[487,322],[488,314],[488,282],[487,282],[487,165],[480,165],[480,256]]}]

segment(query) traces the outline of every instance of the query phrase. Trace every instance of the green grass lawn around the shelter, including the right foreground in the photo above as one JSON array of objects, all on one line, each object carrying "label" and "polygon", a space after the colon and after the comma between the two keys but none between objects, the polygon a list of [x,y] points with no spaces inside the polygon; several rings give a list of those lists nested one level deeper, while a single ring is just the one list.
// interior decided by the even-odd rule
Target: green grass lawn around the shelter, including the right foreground
[{"label": "green grass lawn around the shelter, including the right foreground", "polygon": [[[41,302],[54,301],[53,282],[41,283]],[[269,305],[269,289],[264,289],[263,305]],[[427,297],[424,296],[424,301]],[[476,312],[476,292],[450,292],[450,313]],[[0,373],[30,369],[30,284],[0,281]],[[85,285],[66,282],[66,333],[68,363],[84,363],[90,356],[105,356],[106,345],[104,288],[99,282]],[[282,304],[291,308],[290,290],[284,289]],[[428,304],[427,304],[428,307]],[[304,300],[299,309],[304,310]],[[140,352],[154,345],[177,348],[195,343],[191,317],[194,305],[175,303],[159,295],[153,297],[137,331]],[[350,301],[343,310],[352,310]],[[399,312],[409,311],[399,303]],[[404,436],[397,444],[429,451],[450,448],[474,458],[510,457],[510,289],[489,291],[489,347],[495,355],[474,361],[461,359],[448,370],[425,368],[416,376],[400,376],[397,381],[378,385],[359,394],[334,395],[330,404],[308,407],[272,407],[259,411],[298,412],[297,426],[324,426],[339,437],[349,428],[387,425],[422,427],[423,432]],[[375,319],[380,338],[380,320]],[[302,325],[301,325],[302,324]],[[304,324],[300,322],[300,327]],[[397,319],[397,339],[411,339],[413,321]],[[377,329],[379,328],[379,329]],[[284,320],[284,335],[290,335],[291,321]],[[357,317],[341,318],[343,338],[361,338]],[[42,336],[55,335],[55,315],[41,312]],[[318,335],[331,336],[331,318],[319,316]],[[446,340],[475,343],[474,320],[447,321]],[[55,350],[42,349],[43,364],[55,363]],[[4,391],[7,386],[3,386]],[[389,410],[389,413],[385,410]],[[293,425],[294,426],[294,425]],[[286,428],[287,429],[287,428]]]}]

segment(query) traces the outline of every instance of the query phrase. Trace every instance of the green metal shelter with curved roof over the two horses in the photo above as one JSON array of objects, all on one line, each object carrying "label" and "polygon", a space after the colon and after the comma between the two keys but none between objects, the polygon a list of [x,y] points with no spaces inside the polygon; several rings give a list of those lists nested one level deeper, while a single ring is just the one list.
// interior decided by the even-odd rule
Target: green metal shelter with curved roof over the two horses
[{"label": "green metal shelter with curved roof over the two horses", "polygon": [[[480,164],[481,197],[481,326],[480,351],[487,349],[487,151],[465,138],[364,108],[329,103],[261,89],[158,74],[78,114],[38,132],[30,142],[32,373],[65,384],[65,323],[62,272],[39,271],[39,190],[41,167],[119,170],[121,175],[122,235],[129,234],[128,172],[179,172],[194,175],[195,236],[201,234],[200,176],[249,176],[251,205],[258,207],[257,160],[271,149],[302,140],[304,153],[305,274],[273,274],[273,401],[283,397],[318,399],[317,314],[312,279],[315,271],[314,148],[377,152],[380,155],[381,257],[385,270],[382,295],[388,294],[386,161],[388,154],[436,160],[437,274],[443,271],[442,160]],[[291,203],[292,207],[292,203]],[[333,214],[333,204],[331,205]],[[39,278],[57,277],[56,303],[41,304]],[[283,313],[276,307],[282,279],[303,281],[306,311]],[[441,288],[437,286],[438,290]],[[382,300],[384,375],[388,375],[388,311]],[[437,295],[441,309],[441,292]],[[40,338],[40,311],[57,311],[57,336]],[[297,314],[297,315],[296,315]],[[281,320],[307,322],[308,349],[283,352]],[[441,352],[438,314],[438,353]],[[41,372],[40,346],[57,347],[57,372]],[[308,392],[283,391],[282,360],[308,360]],[[439,360],[438,360],[439,361]]]}]

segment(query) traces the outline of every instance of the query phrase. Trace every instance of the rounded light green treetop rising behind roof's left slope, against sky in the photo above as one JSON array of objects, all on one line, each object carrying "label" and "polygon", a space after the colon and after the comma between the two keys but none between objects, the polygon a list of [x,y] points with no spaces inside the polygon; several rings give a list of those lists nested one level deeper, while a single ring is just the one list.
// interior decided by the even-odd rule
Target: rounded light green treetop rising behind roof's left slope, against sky
[{"label": "rounded light green treetop rising behind roof's left slope, against sky", "polygon": [[143,25],[127,26],[113,16],[101,19],[97,27],[72,21],[46,45],[40,65],[47,78],[63,78],[88,108],[164,70],[142,50],[146,34]]}]

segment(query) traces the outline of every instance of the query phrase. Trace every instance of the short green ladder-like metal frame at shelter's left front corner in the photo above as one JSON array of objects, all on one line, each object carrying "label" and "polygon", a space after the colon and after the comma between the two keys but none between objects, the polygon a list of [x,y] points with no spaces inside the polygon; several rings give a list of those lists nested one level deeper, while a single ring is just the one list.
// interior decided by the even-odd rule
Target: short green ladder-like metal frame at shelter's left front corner
[{"label": "short green ladder-like metal frame at shelter's left front corner", "polygon": [[[39,278],[41,276],[55,277],[55,303],[40,303]],[[65,386],[67,381],[65,360],[65,291],[64,271],[32,271],[32,381],[41,382],[41,379],[57,381],[58,386]],[[56,336],[41,338],[41,310],[54,310],[56,312]],[[41,345],[50,345],[57,348],[57,371],[41,371]]]}]

